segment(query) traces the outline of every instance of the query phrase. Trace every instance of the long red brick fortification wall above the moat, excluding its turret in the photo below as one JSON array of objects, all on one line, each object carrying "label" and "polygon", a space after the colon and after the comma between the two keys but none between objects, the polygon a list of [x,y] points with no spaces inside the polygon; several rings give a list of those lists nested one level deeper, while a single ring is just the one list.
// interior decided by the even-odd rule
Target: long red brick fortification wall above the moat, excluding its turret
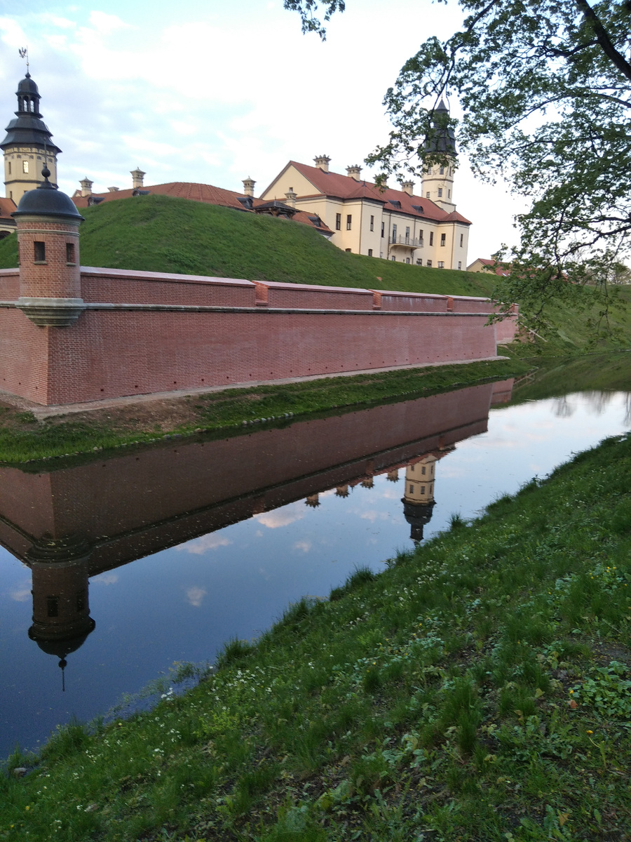
[{"label": "long red brick fortification wall above the moat, excluding its turret", "polygon": [[77,321],[37,327],[15,307],[17,270],[0,270],[1,389],[50,405],[496,354],[487,299],[118,269],[80,281]]}]

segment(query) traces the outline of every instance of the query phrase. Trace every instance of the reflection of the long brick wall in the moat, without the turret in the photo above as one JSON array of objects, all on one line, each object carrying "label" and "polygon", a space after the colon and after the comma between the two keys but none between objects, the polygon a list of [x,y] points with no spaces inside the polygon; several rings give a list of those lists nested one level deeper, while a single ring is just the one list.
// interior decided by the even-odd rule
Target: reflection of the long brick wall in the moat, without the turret
[{"label": "reflection of the long brick wall in the moat, without the turret", "polygon": [[47,474],[3,467],[0,542],[23,557],[24,533],[98,545],[109,536],[89,563],[92,572],[117,567],[484,432],[492,393],[492,384],[473,386]]}]

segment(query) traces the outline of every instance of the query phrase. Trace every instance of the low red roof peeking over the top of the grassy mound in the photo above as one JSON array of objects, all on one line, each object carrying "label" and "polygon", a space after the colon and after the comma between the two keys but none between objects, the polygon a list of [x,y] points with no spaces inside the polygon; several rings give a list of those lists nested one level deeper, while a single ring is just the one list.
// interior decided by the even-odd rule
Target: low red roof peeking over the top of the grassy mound
[{"label": "low red roof peeking over the top of the grassy mound", "polygon": [[[77,190],[77,193],[79,191]],[[72,201],[77,205],[77,208],[87,208],[89,205],[100,204],[94,200],[103,200],[105,202],[114,201],[118,199],[130,199],[132,196],[149,193],[151,195],[175,196],[178,199],[188,199],[194,202],[204,202],[206,205],[220,205],[220,207],[235,208],[236,210],[250,211],[249,208],[244,207],[242,202],[247,197],[242,193],[235,193],[234,190],[225,190],[222,187],[214,187],[212,184],[194,184],[188,181],[172,181],[169,184],[151,184],[147,187],[138,189],[114,190],[108,193],[93,193],[88,200],[87,196],[73,195]],[[252,209],[259,205],[266,204],[261,199],[252,198]],[[324,221],[320,225],[316,225],[310,218],[315,214],[306,213],[304,210],[297,210],[292,219],[297,222],[302,222],[305,225],[310,225],[317,231],[323,233],[332,233],[331,229],[326,226]]]}]

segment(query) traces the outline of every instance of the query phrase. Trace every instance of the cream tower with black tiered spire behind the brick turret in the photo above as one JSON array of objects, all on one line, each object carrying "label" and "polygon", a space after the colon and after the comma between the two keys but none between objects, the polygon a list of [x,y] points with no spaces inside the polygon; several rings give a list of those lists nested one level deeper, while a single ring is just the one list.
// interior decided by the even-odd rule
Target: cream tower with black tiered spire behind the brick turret
[{"label": "cream tower with black tiered spire behind the brick turret", "polygon": [[57,183],[59,147],[51,141],[51,133],[40,114],[40,93],[27,72],[17,90],[18,110],[7,126],[7,135],[0,143],[4,153],[5,195],[16,205],[24,193],[42,182],[42,168],[50,170],[52,184]]}]

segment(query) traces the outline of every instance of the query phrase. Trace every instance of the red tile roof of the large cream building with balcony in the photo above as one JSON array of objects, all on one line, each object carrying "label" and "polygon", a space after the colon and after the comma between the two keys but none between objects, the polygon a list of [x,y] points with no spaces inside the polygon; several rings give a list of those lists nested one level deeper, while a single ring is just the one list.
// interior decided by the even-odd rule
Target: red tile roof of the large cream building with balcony
[{"label": "red tile roof of the large cream building with balcony", "polygon": [[[310,167],[305,163],[290,161],[292,166],[308,179],[318,191],[315,195],[337,196],[340,199],[369,199],[384,205],[384,210],[397,210],[408,216],[417,216],[421,219],[431,219],[437,222],[463,222],[470,225],[471,222],[458,211],[448,213],[439,205],[434,204],[430,199],[423,199],[422,196],[409,195],[405,190],[391,188],[379,189],[369,181],[356,181],[342,173],[325,173],[319,167]],[[307,198],[307,197],[300,197]],[[393,203],[398,202],[398,205]],[[422,210],[419,210],[422,209]]]}]

